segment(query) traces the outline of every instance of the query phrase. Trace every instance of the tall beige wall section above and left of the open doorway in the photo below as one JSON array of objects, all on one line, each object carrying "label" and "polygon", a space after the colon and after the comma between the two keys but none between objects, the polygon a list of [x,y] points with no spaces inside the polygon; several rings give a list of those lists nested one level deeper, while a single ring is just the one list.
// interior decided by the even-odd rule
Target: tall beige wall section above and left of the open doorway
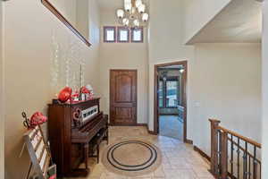
[{"label": "tall beige wall section above and left of the open doorway", "polygon": [[[149,120],[150,130],[154,130],[154,66],[177,61],[188,61],[188,85],[190,72],[194,60],[194,48],[182,45],[182,16],[181,1],[162,0],[150,2],[150,29],[149,29]],[[164,14],[164,15],[163,15]],[[167,21],[168,20],[168,21]],[[174,23],[176,21],[176,23]],[[188,90],[188,98],[190,93]],[[188,125],[188,127],[190,127]],[[189,134],[188,134],[189,135]]]}]

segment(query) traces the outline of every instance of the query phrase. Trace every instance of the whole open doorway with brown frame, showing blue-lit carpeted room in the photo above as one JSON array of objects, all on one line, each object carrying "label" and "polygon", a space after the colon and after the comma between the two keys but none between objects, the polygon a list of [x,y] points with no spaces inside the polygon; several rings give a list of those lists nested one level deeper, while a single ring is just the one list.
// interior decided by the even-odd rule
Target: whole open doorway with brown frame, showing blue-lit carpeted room
[{"label": "whole open doorway with brown frame, showing blue-lit carpeted room", "polygon": [[155,64],[155,133],[188,142],[186,85],[187,61]]}]

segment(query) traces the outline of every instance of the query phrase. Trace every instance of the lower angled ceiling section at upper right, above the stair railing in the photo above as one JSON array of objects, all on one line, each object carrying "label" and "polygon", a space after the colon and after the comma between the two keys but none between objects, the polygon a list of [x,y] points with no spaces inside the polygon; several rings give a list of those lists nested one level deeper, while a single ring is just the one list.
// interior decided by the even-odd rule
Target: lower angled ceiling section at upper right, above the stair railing
[{"label": "lower angled ceiling section at upper right, above the stair railing", "polygon": [[262,4],[255,0],[232,0],[187,44],[257,43],[261,37]]}]

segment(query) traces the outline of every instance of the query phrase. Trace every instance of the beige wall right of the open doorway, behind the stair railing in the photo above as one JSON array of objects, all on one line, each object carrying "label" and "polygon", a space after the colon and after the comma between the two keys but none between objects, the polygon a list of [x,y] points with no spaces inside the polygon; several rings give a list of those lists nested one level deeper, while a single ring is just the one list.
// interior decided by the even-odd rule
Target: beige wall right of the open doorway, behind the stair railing
[{"label": "beige wall right of the open doorway, behind the stair railing", "polygon": [[194,144],[210,154],[209,118],[261,142],[261,45],[197,44],[189,102]]}]

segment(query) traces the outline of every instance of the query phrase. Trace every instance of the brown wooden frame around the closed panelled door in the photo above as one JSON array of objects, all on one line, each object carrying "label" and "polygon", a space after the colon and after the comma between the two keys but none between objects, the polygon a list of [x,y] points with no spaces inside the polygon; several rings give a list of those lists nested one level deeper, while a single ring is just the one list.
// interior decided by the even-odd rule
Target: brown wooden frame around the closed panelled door
[{"label": "brown wooden frame around the closed panelled door", "polygon": [[[136,95],[135,95],[135,100],[136,100],[136,110],[135,110],[135,113],[136,113],[136,115],[135,115],[135,122],[134,122],[134,124],[113,124],[112,123],[112,121],[111,121],[111,111],[112,111],[112,88],[111,88],[111,84],[112,84],[112,75],[111,75],[111,73],[112,72],[136,72],[136,88],[135,88],[135,90],[136,90]],[[137,98],[137,96],[138,96],[138,70],[137,69],[110,69],[110,72],[109,72],[109,96],[110,96],[110,98],[109,98],[109,115],[110,115],[110,120],[109,120],[109,125],[117,125],[117,126],[123,126],[123,125],[125,125],[125,126],[136,126],[137,124],[138,124],[138,120],[137,120],[137,115],[138,115],[138,98]]]}]

